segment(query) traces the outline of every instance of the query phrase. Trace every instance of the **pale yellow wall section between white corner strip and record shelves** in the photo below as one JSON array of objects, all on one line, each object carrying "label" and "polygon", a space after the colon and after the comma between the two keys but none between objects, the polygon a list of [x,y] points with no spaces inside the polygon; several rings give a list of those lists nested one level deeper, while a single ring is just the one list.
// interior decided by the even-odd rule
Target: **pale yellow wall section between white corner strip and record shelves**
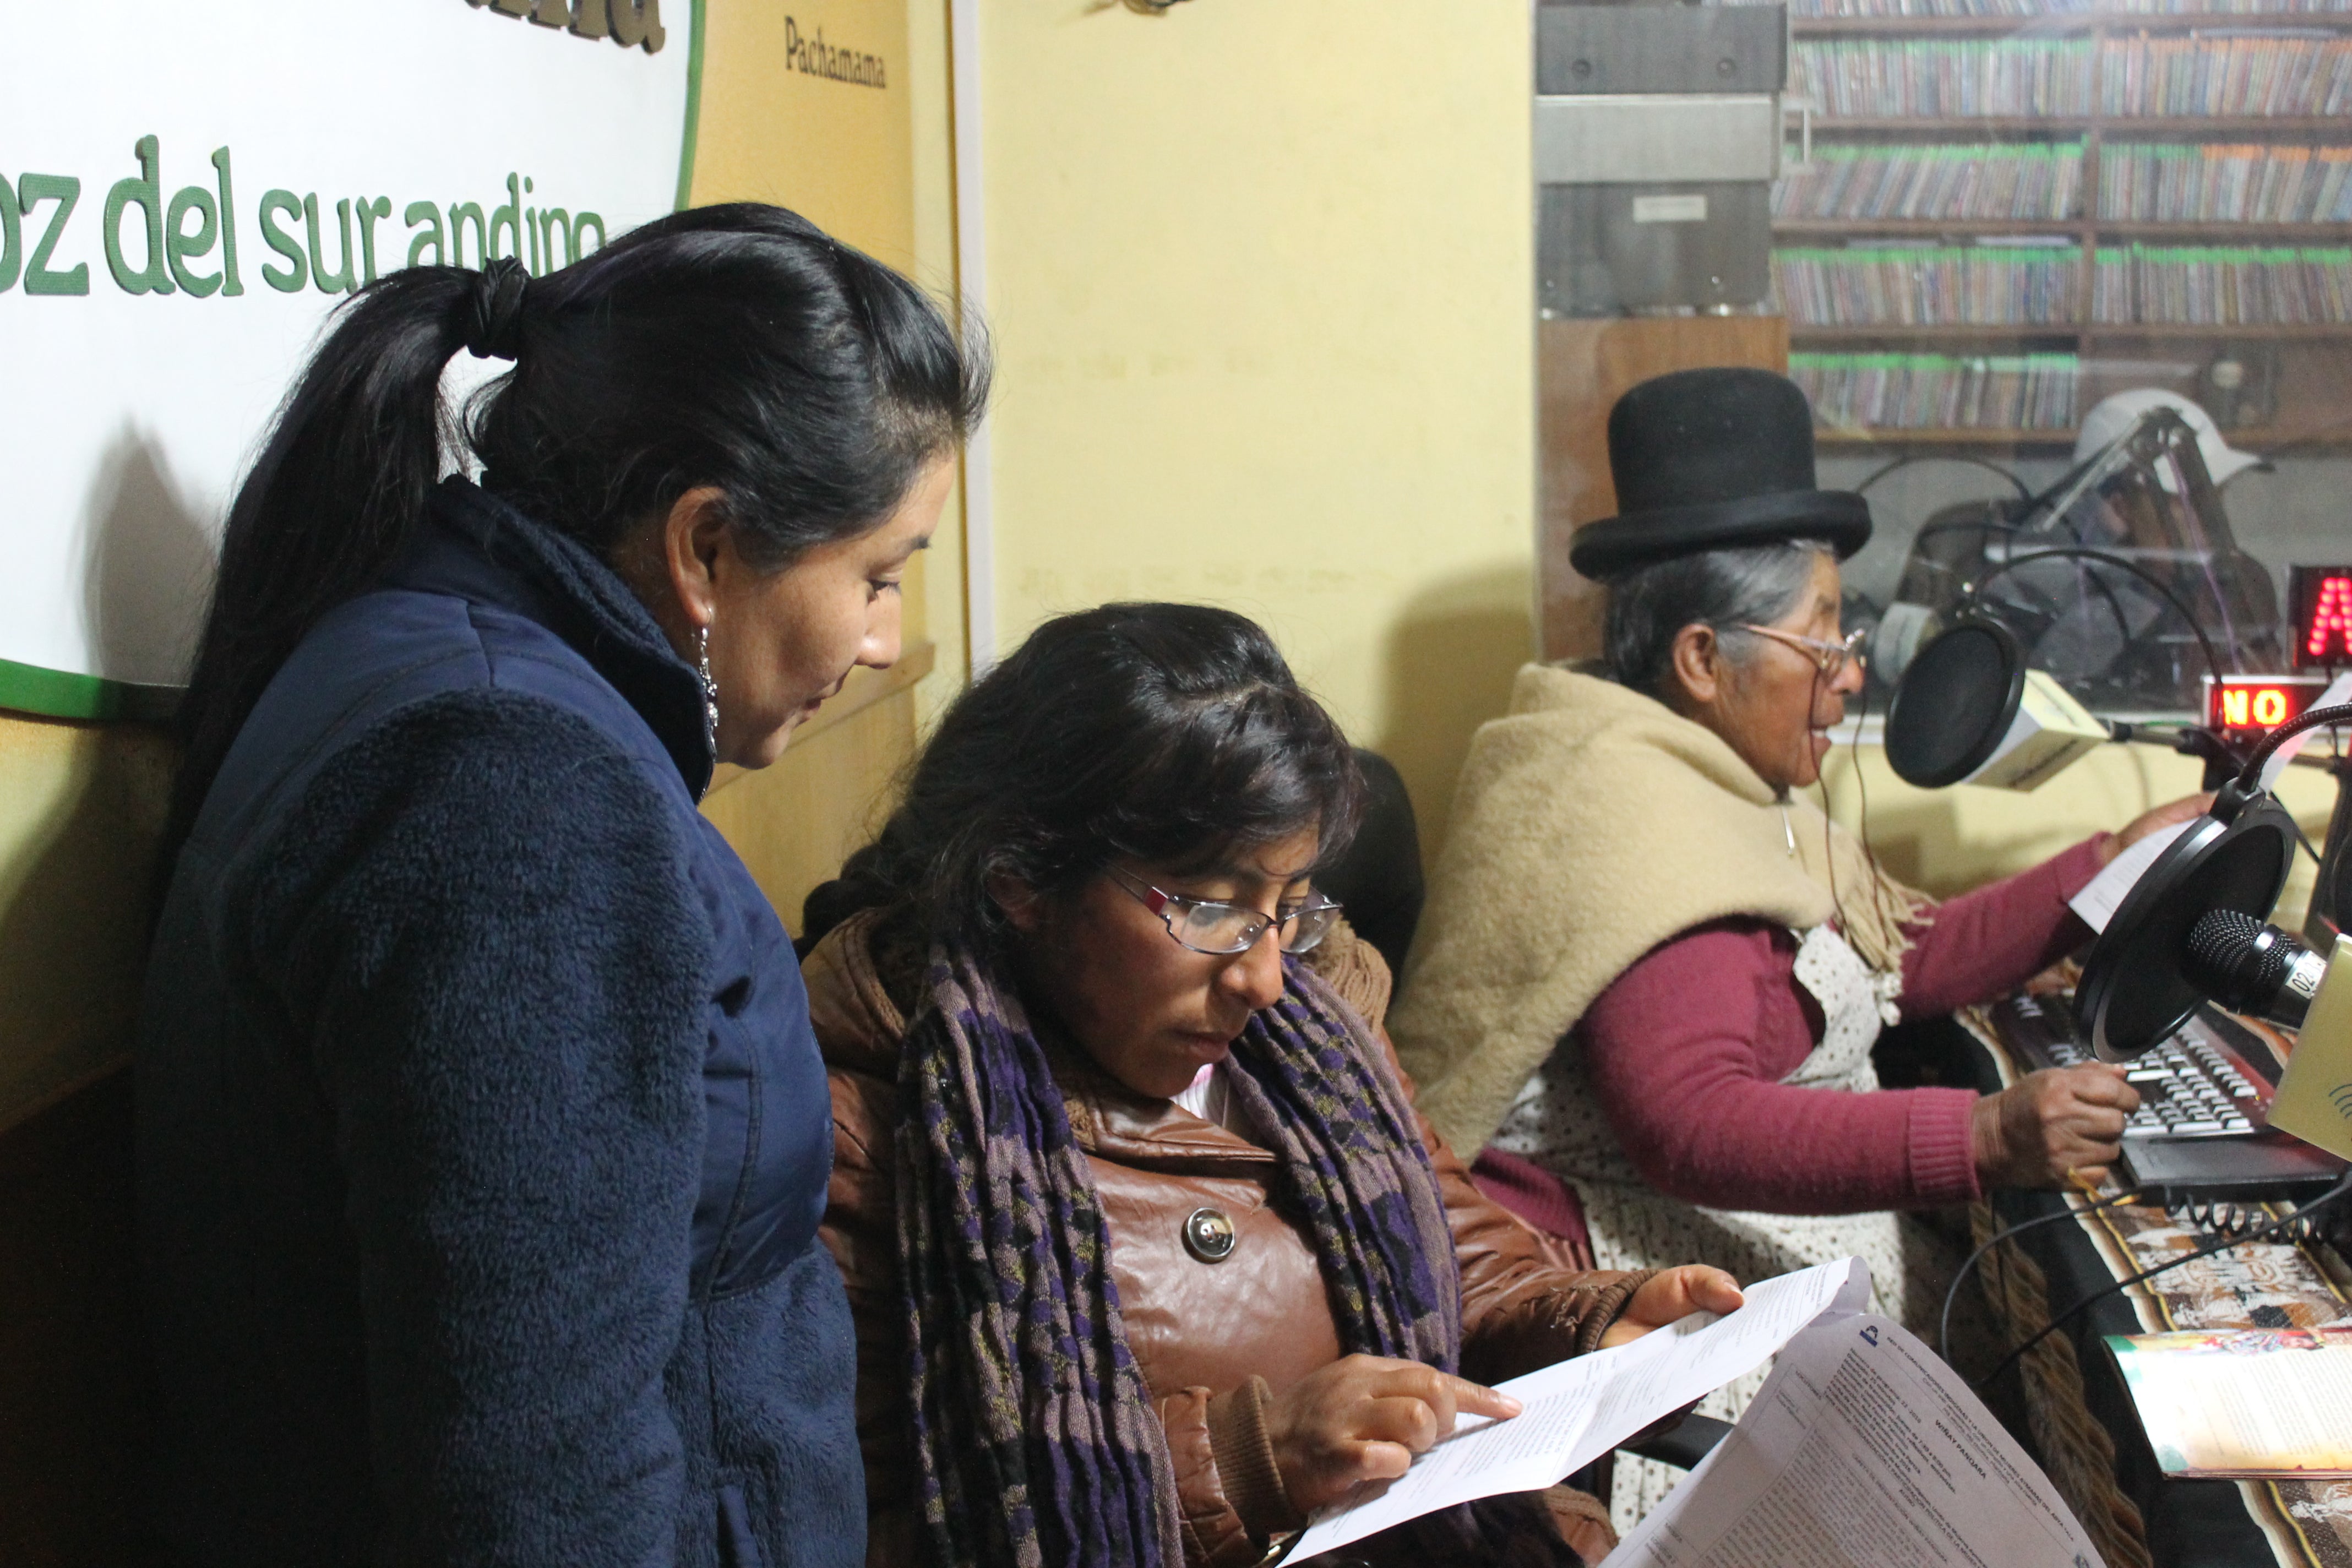
[{"label": "pale yellow wall section between white corner strip and record shelves", "polygon": [[1435,846],[1534,646],[1529,14],[993,0],[1000,642],[1261,618]]}]

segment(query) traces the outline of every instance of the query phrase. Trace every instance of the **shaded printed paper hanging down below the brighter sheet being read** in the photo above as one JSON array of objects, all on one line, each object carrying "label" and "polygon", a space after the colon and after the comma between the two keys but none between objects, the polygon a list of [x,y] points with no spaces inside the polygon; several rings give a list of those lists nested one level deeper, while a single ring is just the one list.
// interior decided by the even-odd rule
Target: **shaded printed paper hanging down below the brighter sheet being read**
[{"label": "shaded printed paper hanging down below the brighter sheet being read", "polygon": [[2049,1476],[1882,1316],[1823,1319],[1602,1568],[2103,1568]]}]

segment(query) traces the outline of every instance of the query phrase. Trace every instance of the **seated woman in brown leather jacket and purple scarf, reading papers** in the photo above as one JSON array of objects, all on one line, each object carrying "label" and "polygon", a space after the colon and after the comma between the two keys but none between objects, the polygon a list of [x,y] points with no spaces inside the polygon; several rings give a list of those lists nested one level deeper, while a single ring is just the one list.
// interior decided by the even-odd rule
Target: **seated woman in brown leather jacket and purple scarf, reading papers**
[{"label": "seated woman in brown leather jacket and purple scarf, reading papers", "polygon": [[[1359,795],[1265,632],[1110,604],[974,684],[809,898],[870,1561],[1254,1563],[1515,1410],[1482,1385],[1738,1302],[1550,1267],[1414,1114],[1312,884]],[[1590,1507],[1369,1556],[1597,1559]]]}]

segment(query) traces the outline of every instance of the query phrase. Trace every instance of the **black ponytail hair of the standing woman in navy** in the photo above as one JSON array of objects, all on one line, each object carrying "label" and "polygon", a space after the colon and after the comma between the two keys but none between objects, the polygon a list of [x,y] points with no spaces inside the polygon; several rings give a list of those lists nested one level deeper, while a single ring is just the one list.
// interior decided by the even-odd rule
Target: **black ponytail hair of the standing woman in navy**
[{"label": "black ponytail hair of the standing woman in navy", "polygon": [[[461,425],[440,378],[468,343],[515,369]],[[179,715],[165,875],[270,677],[421,527],[447,447],[470,447],[489,491],[607,557],[687,489],[717,487],[743,552],[783,567],[887,517],[985,397],[978,339],[781,207],[680,212],[520,289],[449,266],[367,284],[228,510]]]}]

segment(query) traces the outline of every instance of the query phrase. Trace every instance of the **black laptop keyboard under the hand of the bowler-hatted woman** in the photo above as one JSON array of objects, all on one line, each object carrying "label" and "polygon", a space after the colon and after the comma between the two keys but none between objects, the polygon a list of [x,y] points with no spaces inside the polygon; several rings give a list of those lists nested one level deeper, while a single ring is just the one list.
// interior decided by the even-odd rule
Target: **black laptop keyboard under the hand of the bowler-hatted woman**
[{"label": "black laptop keyboard under the hand of the bowler-hatted woman", "polygon": [[[2027,1070],[2098,1060],[2077,1039],[2065,997],[2006,997],[1992,1013]],[[2124,1138],[2251,1138],[2270,1126],[2270,1079],[2230,1039],[2234,1032],[2239,1025],[2199,1009],[2178,1034],[2126,1063],[2140,1110]],[[2260,1051],[2253,1037],[2244,1044]]]}]

